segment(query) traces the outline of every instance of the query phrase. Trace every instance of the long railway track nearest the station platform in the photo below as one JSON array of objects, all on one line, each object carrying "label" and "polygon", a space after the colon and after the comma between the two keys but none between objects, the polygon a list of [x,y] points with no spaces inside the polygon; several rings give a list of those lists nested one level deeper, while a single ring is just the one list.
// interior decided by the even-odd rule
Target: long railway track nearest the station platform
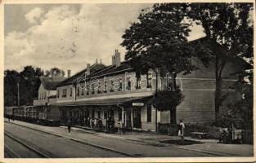
[{"label": "long railway track nearest the station platform", "polygon": [[[8,122],[8,123],[11,123],[11,122]],[[65,135],[61,135],[61,134],[56,134],[56,133],[52,133],[52,132],[47,132],[47,131],[43,131],[43,130],[37,130],[37,129],[34,129],[34,128],[29,127],[29,126],[23,126],[23,125],[16,124],[16,123],[11,123],[11,124],[16,125],[16,126],[23,127],[23,128],[25,128],[25,129],[35,130],[35,131],[40,132],[40,133],[43,133],[43,134],[51,134],[51,135],[56,136],[56,137],[59,137],[59,138],[67,138],[67,139],[70,139],[70,140],[72,140],[72,141],[74,141],[74,142],[77,142],[77,143],[83,143],[83,144],[86,144],[86,145],[90,145],[90,146],[92,146],[92,147],[94,147],[94,148],[101,148],[101,149],[106,150],[106,151],[117,152],[117,153],[119,153],[119,154],[121,154],[121,155],[124,155],[124,156],[126,156],[126,157],[127,157],[127,156],[128,156],[128,157],[137,157],[136,155],[132,155],[132,154],[127,153],[127,152],[120,152],[120,151],[117,151],[117,150],[112,149],[112,148],[107,148],[107,147],[104,147],[104,146],[101,146],[101,145],[98,145],[98,144],[95,144],[95,143],[90,143],[90,142],[87,142],[87,141],[84,141],[84,140],[82,141],[82,140],[80,140],[80,139],[74,139],[74,138],[71,138],[71,137],[69,137],[69,136],[65,136]],[[5,134],[6,134],[6,132],[5,132]],[[48,158],[49,158],[49,157],[48,157]]]}]

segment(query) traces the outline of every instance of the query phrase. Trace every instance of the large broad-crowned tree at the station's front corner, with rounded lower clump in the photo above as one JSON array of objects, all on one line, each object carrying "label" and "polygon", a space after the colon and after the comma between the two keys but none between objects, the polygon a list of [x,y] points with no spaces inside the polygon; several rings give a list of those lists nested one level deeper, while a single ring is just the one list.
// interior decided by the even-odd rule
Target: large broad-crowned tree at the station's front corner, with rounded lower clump
[{"label": "large broad-crowned tree at the station's front corner, with rounded lower clump", "polygon": [[[137,78],[152,69],[156,77],[164,77],[164,74],[174,72],[175,81],[177,73],[191,73],[196,69],[191,62],[193,57],[207,61],[204,58],[206,55],[196,53],[187,42],[190,24],[184,21],[186,8],[187,5],[184,3],[154,4],[150,10],[142,10],[138,21],[125,30],[124,42],[121,45],[128,51],[125,59],[136,71]],[[171,110],[180,104],[183,96],[177,90],[175,82],[173,88],[173,91],[160,93],[156,89],[153,105],[157,109]],[[170,99],[172,97],[173,99]],[[166,103],[159,104],[157,101],[160,99]],[[155,127],[157,130],[157,122]]]}]

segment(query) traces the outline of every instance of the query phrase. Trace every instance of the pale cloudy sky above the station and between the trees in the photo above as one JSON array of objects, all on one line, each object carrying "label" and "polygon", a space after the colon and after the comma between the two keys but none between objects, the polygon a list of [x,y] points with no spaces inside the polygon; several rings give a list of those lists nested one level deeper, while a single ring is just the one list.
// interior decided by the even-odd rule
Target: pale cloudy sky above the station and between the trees
[{"label": "pale cloudy sky above the station and between the trees", "polygon": [[[96,59],[111,64],[115,49],[124,60],[124,30],[151,4],[5,5],[5,69],[26,65],[77,73]],[[194,25],[189,40],[203,37]]]}]

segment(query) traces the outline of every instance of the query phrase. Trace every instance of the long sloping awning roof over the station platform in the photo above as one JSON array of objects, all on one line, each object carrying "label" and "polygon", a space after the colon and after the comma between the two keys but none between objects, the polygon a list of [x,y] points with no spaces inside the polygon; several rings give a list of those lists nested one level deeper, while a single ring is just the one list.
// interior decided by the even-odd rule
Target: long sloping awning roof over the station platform
[{"label": "long sloping awning roof over the station platform", "polygon": [[152,96],[147,97],[128,97],[118,99],[96,99],[90,101],[76,101],[74,103],[61,103],[60,106],[102,106],[102,105],[117,105],[117,104],[132,104],[135,102],[143,102],[150,99]]}]

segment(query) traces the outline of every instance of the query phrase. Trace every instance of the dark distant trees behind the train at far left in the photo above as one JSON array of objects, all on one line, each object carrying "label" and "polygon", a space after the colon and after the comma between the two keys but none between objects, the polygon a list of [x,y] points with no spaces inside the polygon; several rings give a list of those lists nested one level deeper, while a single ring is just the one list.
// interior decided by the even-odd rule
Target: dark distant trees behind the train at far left
[{"label": "dark distant trees behind the train at far left", "polygon": [[34,98],[38,97],[38,88],[41,84],[41,76],[63,77],[64,71],[60,68],[51,68],[49,74],[44,74],[41,68],[25,66],[19,73],[15,70],[4,72],[4,105],[18,105],[18,83],[20,90],[20,105],[33,104]]}]

